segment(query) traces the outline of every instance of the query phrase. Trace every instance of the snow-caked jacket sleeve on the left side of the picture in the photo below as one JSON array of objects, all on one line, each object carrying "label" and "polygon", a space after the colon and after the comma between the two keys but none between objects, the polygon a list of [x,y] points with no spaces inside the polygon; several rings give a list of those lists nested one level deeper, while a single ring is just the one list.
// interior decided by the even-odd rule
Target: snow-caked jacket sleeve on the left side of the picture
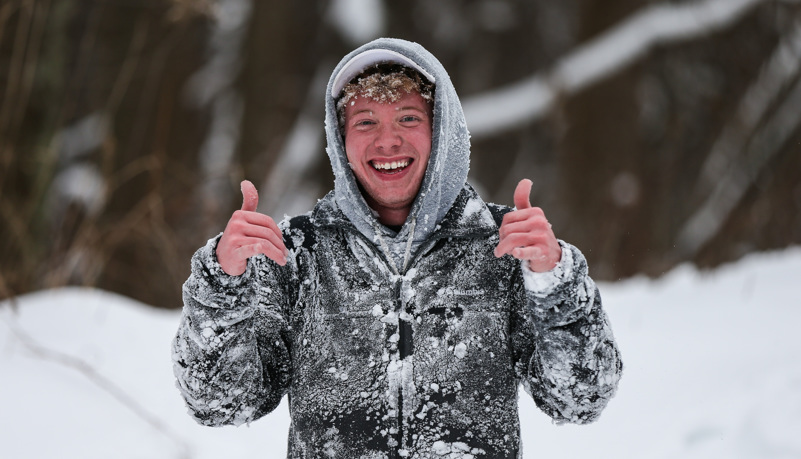
[{"label": "snow-caked jacket sleeve on the left side of the picture", "polygon": [[259,255],[229,276],[217,262],[218,241],[192,257],[173,371],[197,422],[240,425],[275,409],[289,387],[294,265]]}]

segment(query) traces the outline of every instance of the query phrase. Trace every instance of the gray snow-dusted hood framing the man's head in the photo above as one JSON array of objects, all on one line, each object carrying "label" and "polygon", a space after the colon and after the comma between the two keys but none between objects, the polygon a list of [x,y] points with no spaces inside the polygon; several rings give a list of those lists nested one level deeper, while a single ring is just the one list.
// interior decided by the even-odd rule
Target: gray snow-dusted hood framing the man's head
[{"label": "gray snow-dusted hood framing the man's head", "polygon": [[[400,53],[417,63],[434,78],[434,120],[431,157],[406,223],[396,234],[381,225],[359,190],[348,165],[345,146],[337,122],[332,88],[336,75],[355,56],[367,50],[382,49]],[[442,64],[417,43],[394,38],[379,38],[345,56],[328,81],[325,96],[326,152],[334,172],[334,198],[337,206],[368,239],[380,244],[399,271],[407,264],[420,244],[428,239],[442,220],[467,181],[470,169],[470,134],[462,105]]]}]

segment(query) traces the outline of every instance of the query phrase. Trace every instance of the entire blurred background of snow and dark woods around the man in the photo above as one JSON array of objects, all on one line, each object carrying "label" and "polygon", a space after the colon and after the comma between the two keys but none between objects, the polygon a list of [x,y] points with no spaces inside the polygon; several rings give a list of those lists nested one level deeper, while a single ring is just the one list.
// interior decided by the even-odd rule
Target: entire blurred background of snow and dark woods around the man
[{"label": "entire blurred background of snow and dark woods around the man", "polygon": [[285,407],[184,414],[180,285],[243,178],[279,218],[330,189],[324,84],[378,36],[602,281],[620,395],[521,397],[527,457],[801,457],[799,0],[0,0],[0,457],[280,457]]}]

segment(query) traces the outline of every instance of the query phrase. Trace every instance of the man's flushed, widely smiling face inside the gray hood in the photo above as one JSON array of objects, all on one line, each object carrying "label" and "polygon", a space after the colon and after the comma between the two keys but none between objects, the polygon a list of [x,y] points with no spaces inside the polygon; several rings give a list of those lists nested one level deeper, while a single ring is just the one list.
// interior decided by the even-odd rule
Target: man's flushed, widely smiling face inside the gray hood
[{"label": "man's flushed, widely smiling face inside the gray hood", "polygon": [[403,224],[420,190],[431,155],[431,117],[416,92],[392,103],[357,97],[345,108],[348,162],[384,224]]}]

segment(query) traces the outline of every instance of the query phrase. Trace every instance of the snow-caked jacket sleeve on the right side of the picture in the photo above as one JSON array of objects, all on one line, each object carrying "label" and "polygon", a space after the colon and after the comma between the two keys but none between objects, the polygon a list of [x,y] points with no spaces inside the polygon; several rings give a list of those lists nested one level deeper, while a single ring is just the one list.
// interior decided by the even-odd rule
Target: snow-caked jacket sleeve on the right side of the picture
[{"label": "snow-caked jacket sleeve on the right side of the picture", "polygon": [[554,421],[585,424],[615,394],[623,364],[584,256],[559,243],[562,260],[552,271],[521,267],[525,300],[513,319],[515,366],[523,387]]}]

